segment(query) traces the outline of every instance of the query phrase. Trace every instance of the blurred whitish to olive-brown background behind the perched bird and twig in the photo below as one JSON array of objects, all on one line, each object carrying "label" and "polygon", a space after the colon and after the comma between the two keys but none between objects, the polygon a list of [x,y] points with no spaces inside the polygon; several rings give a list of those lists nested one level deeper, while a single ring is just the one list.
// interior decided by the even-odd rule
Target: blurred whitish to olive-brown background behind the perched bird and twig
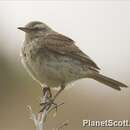
[{"label": "blurred whitish to olive-brown background behind the perched bird and twig", "polygon": [[[47,21],[78,41],[77,45],[102,68],[102,73],[130,86],[129,13],[129,2],[1,1],[0,130],[35,129],[26,106],[39,110],[41,89],[21,64],[24,34],[17,30],[18,26],[32,20]],[[84,119],[130,120],[129,99],[129,88],[118,92],[94,80],[76,81],[58,97],[57,102],[65,105],[55,118],[49,115],[46,129],[65,120],[69,120],[66,130],[89,129],[82,128]]]}]

